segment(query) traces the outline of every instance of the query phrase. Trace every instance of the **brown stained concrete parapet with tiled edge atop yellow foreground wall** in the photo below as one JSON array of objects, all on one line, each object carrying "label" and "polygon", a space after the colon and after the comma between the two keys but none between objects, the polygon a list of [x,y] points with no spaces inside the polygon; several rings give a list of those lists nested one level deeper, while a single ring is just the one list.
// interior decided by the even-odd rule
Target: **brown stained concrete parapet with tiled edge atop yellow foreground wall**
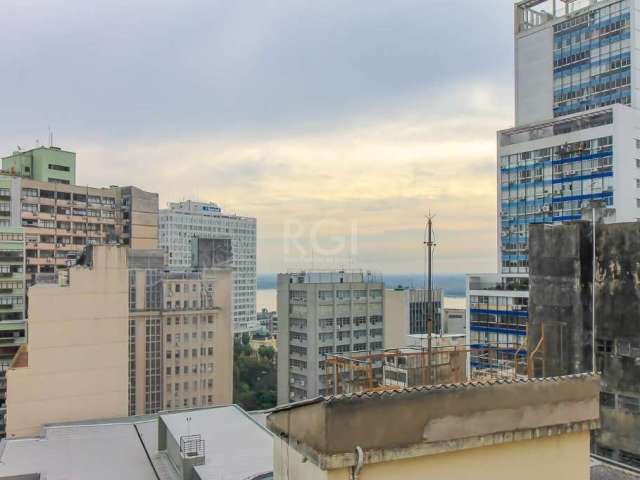
[{"label": "brown stained concrete parapet with tiled edge atop yellow foreground wall", "polygon": [[390,451],[399,459],[591,428],[599,388],[587,375],[339,396],[283,408],[268,425],[327,468],[352,461],[356,446],[380,463]]}]

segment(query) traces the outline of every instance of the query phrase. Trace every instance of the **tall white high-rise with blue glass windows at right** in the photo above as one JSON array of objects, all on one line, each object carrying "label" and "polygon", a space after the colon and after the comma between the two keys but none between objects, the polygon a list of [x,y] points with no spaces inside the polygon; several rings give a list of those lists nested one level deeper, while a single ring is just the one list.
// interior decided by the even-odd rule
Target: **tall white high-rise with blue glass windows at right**
[{"label": "tall white high-rise with blue glass windows at right", "polygon": [[[578,219],[594,201],[609,222],[640,218],[639,8],[515,4],[516,125],[497,134],[498,275],[468,279],[474,365],[526,355],[530,224]],[[498,347],[494,359],[480,353],[486,346]]]}]

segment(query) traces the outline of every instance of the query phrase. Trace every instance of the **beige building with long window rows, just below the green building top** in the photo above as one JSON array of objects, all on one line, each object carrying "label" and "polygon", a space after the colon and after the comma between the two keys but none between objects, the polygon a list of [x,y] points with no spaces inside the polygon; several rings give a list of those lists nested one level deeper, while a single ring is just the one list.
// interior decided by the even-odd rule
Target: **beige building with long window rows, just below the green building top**
[{"label": "beige building with long window rows, just below the green building top", "polygon": [[2,175],[2,225],[24,227],[29,278],[72,264],[87,245],[158,247],[158,194],[136,187],[93,188]]}]

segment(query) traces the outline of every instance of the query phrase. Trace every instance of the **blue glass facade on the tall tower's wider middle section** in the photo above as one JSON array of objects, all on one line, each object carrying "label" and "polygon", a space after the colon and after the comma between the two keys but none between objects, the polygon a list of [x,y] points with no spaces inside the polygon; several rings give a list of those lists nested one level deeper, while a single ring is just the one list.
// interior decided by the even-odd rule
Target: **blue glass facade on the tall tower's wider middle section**
[{"label": "blue glass facade on the tall tower's wider middle section", "polygon": [[577,220],[590,200],[613,204],[611,136],[503,155],[500,162],[503,273],[527,273],[530,224]]}]

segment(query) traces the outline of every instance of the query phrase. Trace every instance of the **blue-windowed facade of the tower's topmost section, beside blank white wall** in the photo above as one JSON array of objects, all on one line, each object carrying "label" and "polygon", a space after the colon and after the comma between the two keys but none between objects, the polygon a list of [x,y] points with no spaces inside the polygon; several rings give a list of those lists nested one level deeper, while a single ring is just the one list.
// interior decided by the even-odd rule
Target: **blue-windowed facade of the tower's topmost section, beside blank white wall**
[{"label": "blue-windowed facade of the tower's topmost section, beside blank white wall", "polygon": [[631,16],[626,1],[553,27],[556,117],[631,103]]}]

